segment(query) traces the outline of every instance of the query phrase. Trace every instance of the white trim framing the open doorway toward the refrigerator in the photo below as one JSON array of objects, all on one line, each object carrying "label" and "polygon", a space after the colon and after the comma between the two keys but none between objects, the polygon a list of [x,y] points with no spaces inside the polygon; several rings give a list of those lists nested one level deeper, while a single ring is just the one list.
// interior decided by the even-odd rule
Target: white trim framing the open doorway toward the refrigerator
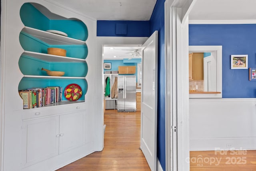
[{"label": "white trim framing the open doorway toward the refrigerator", "polygon": [[[96,68],[96,89],[98,90],[96,92],[96,101],[99,103],[96,107],[96,121],[97,123],[97,130],[96,132],[100,136],[95,136],[97,141],[95,144],[95,150],[96,151],[102,151],[104,148],[104,105],[103,105],[103,98],[104,98],[104,78],[103,76],[103,46],[104,45],[124,45],[124,46],[130,46],[134,44],[144,44],[148,40],[148,37],[97,37],[96,38],[96,48],[95,48],[95,54],[96,54],[96,64],[94,66],[97,66]],[[90,65],[88,65],[90,66]]]}]

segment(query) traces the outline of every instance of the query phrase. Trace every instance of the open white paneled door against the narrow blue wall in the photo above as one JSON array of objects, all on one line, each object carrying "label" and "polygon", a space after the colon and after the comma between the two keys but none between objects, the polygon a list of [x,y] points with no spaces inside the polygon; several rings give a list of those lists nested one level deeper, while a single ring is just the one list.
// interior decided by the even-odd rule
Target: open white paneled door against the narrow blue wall
[{"label": "open white paneled door against the narrow blue wall", "polygon": [[158,31],[142,45],[142,99],[140,147],[152,171],[156,171]]}]

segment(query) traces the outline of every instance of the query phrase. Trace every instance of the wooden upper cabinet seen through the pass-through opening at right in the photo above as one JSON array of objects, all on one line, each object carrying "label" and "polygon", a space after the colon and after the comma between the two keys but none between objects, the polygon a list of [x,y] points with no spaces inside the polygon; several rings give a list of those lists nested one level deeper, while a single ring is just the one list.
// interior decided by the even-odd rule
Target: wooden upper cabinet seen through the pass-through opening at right
[{"label": "wooden upper cabinet seen through the pass-through opening at right", "polygon": [[204,53],[192,53],[188,56],[189,80],[204,80]]}]

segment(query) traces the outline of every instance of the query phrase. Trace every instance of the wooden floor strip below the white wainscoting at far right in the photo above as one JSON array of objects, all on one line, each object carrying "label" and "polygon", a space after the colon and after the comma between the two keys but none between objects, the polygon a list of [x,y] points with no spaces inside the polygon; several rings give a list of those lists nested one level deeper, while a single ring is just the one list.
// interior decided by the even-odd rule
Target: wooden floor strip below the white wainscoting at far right
[{"label": "wooden floor strip below the white wainscoting at far right", "polygon": [[256,150],[190,151],[190,171],[256,171]]}]

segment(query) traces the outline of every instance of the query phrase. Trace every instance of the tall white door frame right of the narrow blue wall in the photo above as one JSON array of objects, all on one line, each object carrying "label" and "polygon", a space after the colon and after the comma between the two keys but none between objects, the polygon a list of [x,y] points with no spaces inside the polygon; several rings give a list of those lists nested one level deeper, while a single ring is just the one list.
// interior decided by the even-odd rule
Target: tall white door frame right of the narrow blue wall
[{"label": "tall white door frame right of the narrow blue wall", "polygon": [[166,0],[166,170],[189,171],[188,15],[196,0]]}]

